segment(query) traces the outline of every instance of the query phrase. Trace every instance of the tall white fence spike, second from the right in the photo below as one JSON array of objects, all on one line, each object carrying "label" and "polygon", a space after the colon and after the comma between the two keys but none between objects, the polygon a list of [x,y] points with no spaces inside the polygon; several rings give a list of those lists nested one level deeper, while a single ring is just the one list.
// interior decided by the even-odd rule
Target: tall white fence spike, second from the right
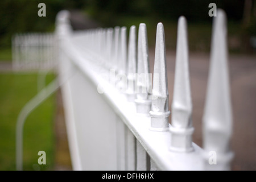
[{"label": "tall white fence spike, second from the right", "polygon": [[189,152],[192,147],[192,101],[189,81],[189,53],[187,20],[180,16],[177,27],[177,48],[172,99],[171,147],[172,151]]}]

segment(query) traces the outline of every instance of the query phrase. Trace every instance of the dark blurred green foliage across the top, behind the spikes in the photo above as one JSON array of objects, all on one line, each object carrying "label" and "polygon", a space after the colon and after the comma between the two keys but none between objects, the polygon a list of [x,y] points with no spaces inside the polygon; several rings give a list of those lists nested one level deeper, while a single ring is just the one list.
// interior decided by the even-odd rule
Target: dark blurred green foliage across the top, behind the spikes
[{"label": "dark blurred green foliage across the top, behind the spikes", "polygon": [[[46,17],[38,16],[38,3],[40,2],[46,4]],[[138,22],[144,22],[147,23],[148,34],[152,36],[154,36],[155,26],[158,22],[164,22],[166,30],[175,32],[177,19],[180,15],[184,15],[188,19],[188,23],[192,23],[192,32],[189,34],[192,34],[191,40],[196,40],[192,43],[192,47],[208,49],[209,46],[205,43],[200,43],[200,46],[194,46],[194,44],[199,41],[204,42],[200,35],[209,36],[208,25],[212,23],[212,18],[208,16],[208,5],[212,2],[216,3],[217,8],[226,11],[229,22],[240,23],[244,6],[244,2],[241,0],[1,0],[0,49],[1,47],[10,47],[11,36],[16,33],[55,30],[56,14],[63,9],[84,11],[90,18],[97,20],[102,27],[117,25],[129,27],[131,24],[137,25]],[[205,27],[204,24],[207,24],[208,27]],[[196,30],[196,27],[203,28],[203,30]],[[246,35],[254,35],[255,21],[252,21],[244,31]],[[170,47],[174,47],[173,42],[176,40],[176,35],[169,34],[169,32],[166,34],[167,38],[168,36],[171,38],[167,39],[167,47],[168,44]],[[152,46],[154,42],[149,40],[149,44]]]}]

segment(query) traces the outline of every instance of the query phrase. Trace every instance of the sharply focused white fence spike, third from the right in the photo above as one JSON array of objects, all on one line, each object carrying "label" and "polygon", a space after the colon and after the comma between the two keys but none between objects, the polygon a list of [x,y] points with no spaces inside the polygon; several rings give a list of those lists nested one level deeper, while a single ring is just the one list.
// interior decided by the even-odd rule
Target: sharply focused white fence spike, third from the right
[{"label": "sharply focused white fence spike, third from the right", "polygon": [[170,110],[168,107],[169,93],[167,83],[166,45],[162,23],[158,23],[156,29],[154,78],[151,99],[150,129],[153,131],[167,131]]}]

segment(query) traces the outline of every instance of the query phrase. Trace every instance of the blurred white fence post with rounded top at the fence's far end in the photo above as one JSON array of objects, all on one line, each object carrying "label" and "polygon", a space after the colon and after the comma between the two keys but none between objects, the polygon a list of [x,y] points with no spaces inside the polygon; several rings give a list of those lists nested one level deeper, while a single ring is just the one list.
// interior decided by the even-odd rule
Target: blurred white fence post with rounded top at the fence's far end
[{"label": "blurred white fence post with rounded top at the fence's far end", "polygon": [[[56,39],[57,39],[57,65],[59,65],[59,79],[61,83],[61,92],[63,96],[63,104],[65,106],[65,122],[67,125],[68,143],[71,153],[71,161],[73,170],[81,170],[82,164],[80,160],[80,151],[77,143],[77,134],[75,127],[75,114],[73,102],[71,100],[71,85],[68,77],[71,75],[70,68],[67,68],[67,56],[64,56],[62,50],[65,41],[71,36],[72,27],[69,23],[69,12],[66,10],[60,11],[56,17]],[[65,81],[65,82],[64,82]]]}]

